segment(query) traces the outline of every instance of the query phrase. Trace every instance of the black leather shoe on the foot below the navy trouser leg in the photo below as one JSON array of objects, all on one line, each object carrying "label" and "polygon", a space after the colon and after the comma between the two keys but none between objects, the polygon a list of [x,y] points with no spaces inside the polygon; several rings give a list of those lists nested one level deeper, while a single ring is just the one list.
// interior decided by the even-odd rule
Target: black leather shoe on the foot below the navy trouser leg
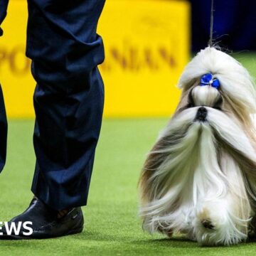
[{"label": "black leather shoe on the foot below the navy trouser leg", "polygon": [[[56,238],[82,232],[84,220],[80,207],[69,210],[62,218],[57,216],[58,211],[33,198],[30,206],[23,213],[11,219],[7,227],[1,228],[0,232],[3,235],[0,235],[0,240]],[[16,229],[21,227],[21,230],[15,232],[12,227],[10,233],[11,225]],[[32,228],[31,232],[27,227]],[[31,235],[27,235],[28,233]]]}]

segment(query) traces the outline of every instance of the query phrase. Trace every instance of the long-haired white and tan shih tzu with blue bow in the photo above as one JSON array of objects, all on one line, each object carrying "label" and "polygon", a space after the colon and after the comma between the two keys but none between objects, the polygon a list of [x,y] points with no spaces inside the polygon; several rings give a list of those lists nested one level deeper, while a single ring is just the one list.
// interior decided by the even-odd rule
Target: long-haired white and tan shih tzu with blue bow
[{"label": "long-haired white and tan shih tzu with blue bow", "polygon": [[143,228],[232,245],[256,211],[256,94],[230,55],[201,50],[186,66],[181,100],[149,152],[139,181]]}]

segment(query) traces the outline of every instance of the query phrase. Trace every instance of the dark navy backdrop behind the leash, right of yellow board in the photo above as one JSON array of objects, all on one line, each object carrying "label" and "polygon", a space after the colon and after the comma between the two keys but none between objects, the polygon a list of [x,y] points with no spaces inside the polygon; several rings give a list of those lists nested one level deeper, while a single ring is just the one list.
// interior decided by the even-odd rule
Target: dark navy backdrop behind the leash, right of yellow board
[{"label": "dark navy backdrop behind the leash, right of yellow board", "polygon": [[[210,31],[210,0],[190,0],[192,50],[205,48]],[[256,0],[215,0],[213,38],[230,50],[256,50]]]}]

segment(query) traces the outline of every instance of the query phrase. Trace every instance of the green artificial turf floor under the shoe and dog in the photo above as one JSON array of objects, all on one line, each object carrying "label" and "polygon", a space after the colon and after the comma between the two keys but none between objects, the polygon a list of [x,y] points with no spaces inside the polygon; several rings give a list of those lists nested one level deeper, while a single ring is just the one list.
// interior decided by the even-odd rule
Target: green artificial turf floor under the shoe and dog
[{"label": "green artificial turf floor under the shoe and dog", "polygon": [[[255,55],[236,55],[256,75]],[[168,119],[105,119],[97,147],[85,230],[50,240],[0,240],[0,255],[255,255],[256,243],[199,247],[182,237],[148,235],[137,217],[137,181],[146,152]],[[6,168],[0,176],[0,221],[31,201],[33,121],[11,120]]]}]

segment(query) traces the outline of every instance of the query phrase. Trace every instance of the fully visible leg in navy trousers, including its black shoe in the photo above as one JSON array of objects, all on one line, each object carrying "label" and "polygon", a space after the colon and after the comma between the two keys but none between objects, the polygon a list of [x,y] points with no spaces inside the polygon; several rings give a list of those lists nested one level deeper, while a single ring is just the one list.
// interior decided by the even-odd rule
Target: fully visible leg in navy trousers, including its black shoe
[{"label": "fully visible leg in navy trousers, including its black shoe", "polygon": [[[33,221],[31,238],[82,230],[100,134],[104,60],[97,21],[105,0],[28,0],[26,54],[32,73],[36,171],[31,206],[12,221]],[[63,218],[58,218],[65,210]],[[18,238],[22,238],[20,235]]]}]

